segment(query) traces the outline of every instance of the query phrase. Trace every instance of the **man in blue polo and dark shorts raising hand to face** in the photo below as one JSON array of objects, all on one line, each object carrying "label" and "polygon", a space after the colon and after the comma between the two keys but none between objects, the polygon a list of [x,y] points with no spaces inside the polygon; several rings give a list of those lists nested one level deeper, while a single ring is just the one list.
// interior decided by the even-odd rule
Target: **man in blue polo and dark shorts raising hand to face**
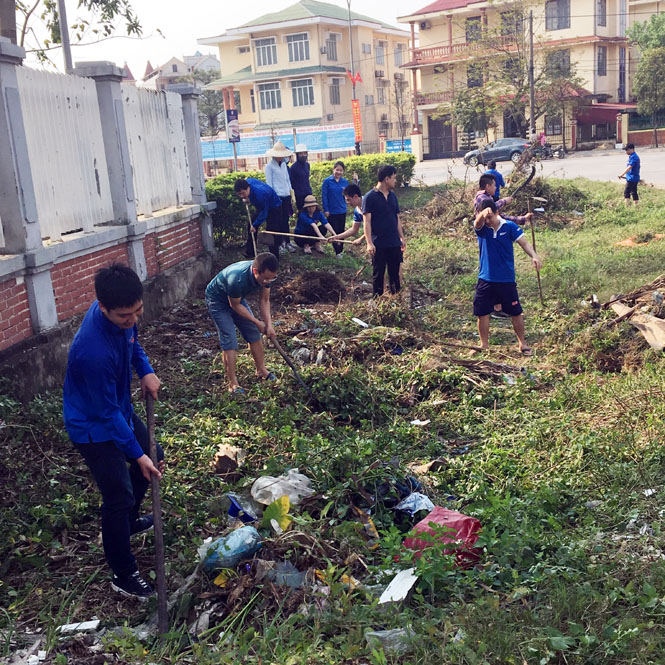
[{"label": "man in blue polo and dark shorts raising hand to face", "polygon": [[478,317],[478,334],[482,349],[489,348],[490,314],[500,304],[513,323],[520,353],[531,355],[524,333],[524,316],[515,282],[516,242],[530,257],[533,267],[540,270],[542,263],[527,241],[522,229],[503,219],[494,201],[485,201],[476,216],[473,228],[478,237],[480,271],[473,298],[473,315]]}]

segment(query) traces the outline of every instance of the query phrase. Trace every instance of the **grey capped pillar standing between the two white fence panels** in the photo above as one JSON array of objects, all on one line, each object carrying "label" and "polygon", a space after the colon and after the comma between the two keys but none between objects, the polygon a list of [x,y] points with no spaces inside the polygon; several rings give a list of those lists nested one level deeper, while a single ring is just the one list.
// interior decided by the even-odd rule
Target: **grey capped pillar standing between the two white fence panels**
[{"label": "grey capped pillar standing between the two white fence panels", "polygon": [[113,219],[116,224],[133,224],[136,222],[136,197],[120,87],[124,71],[112,62],[80,62],[74,74],[94,79],[97,86]]}]

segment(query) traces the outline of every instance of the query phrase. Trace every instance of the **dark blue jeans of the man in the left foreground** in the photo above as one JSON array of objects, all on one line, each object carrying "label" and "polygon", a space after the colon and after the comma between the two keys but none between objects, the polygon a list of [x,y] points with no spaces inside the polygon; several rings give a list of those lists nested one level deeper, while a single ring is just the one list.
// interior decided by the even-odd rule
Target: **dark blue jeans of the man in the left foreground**
[{"label": "dark blue jeans of the man in the left foreground", "polygon": [[[148,430],[134,413],[132,424],[141,449],[150,455]],[[129,545],[131,525],[139,516],[149,483],[136,461],[128,458],[113,441],[75,443],[74,446],[83,455],[102,495],[102,542],[106,561],[117,577],[131,575],[137,570]],[[164,459],[159,444],[157,459]]]}]

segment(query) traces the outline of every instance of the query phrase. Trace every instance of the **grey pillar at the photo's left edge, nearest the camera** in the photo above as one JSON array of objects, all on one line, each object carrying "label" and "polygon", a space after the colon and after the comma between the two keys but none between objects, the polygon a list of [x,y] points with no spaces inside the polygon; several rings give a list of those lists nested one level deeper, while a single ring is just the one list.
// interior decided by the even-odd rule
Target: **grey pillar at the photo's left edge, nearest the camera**
[{"label": "grey pillar at the photo's left edge, nearest the camera", "polygon": [[5,244],[0,252],[9,254],[42,246],[16,76],[24,57],[20,46],[0,38],[0,220]]}]

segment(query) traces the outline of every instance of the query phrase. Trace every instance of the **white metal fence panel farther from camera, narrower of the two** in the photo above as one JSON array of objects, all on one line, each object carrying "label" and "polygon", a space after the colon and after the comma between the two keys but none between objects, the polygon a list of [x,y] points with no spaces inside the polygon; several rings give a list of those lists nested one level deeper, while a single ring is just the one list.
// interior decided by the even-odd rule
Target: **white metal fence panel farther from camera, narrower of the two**
[{"label": "white metal fence panel farther from camera, narrower of the two", "polygon": [[191,198],[182,99],[123,84],[136,209],[150,216]]}]

